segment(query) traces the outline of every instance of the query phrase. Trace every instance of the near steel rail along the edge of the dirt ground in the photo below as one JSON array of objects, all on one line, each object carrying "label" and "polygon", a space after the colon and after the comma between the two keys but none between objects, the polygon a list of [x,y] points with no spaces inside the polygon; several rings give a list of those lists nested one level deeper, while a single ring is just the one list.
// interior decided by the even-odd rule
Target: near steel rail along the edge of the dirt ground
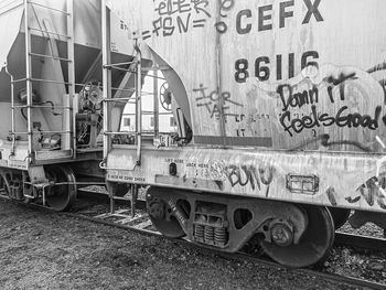
[{"label": "near steel rail along the edge of the dirt ground", "polygon": [[[7,200],[10,202],[15,202],[15,201],[9,198],[8,196],[1,195],[1,194],[0,194],[0,198]],[[309,276],[323,278],[328,281],[333,281],[333,282],[341,283],[341,284],[347,284],[350,287],[361,287],[361,288],[365,288],[365,289],[376,289],[376,290],[378,290],[378,289],[385,290],[386,289],[386,284],[379,283],[379,282],[368,281],[368,280],[364,280],[364,279],[360,279],[360,278],[355,278],[355,277],[350,277],[350,276],[341,276],[341,275],[336,275],[336,273],[323,272],[321,270],[315,270],[312,268],[301,268],[301,269],[290,268],[290,267],[286,267],[283,265],[279,265],[275,261],[268,260],[266,258],[257,257],[255,255],[250,255],[250,254],[246,254],[246,253],[242,253],[242,251],[239,251],[239,253],[224,253],[224,251],[221,251],[221,250],[215,249],[215,248],[211,248],[211,247],[205,246],[205,245],[193,244],[193,243],[191,243],[186,239],[183,239],[183,238],[181,238],[181,239],[168,238],[168,237],[163,236],[161,233],[154,232],[154,230],[136,228],[132,226],[122,225],[122,224],[118,224],[118,223],[114,223],[114,222],[109,222],[109,221],[104,221],[101,218],[95,218],[95,217],[90,217],[90,216],[86,216],[86,215],[82,215],[82,214],[76,214],[76,213],[55,212],[55,211],[51,210],[50,207],[39,205],[39,204],[32,204],[32,203],[25,204],[25,203],[21,203],[21,202],[15,202],[15,203],[20,204],[22,206],[29,207],[29,208],[40,210],[40,211],[44,211],[44,212],[47,212],[51,214],[57,214],[57,215],[62,215],[62,216],[67,216],[67,217],[72,217],[72,218],[87,221],[87,222],[95,223],[95,224],[101,224],[101,225],[106,225],[106,226],[110,226],[110,227],[126,229],[126,230],[130,230],[130,232],[137,233],[137,234],[142,234],[142,235],[147,235],[147,236],[153,236],[153,237],[159,237],[162,239],[173,240],[175,243],[199,249],[199,250],[207,253],[210,255],[215,254],[217,256],[221,256],[223,258],[230,259],[230,260],[256,262],[256,264],[260,264],[260,265],[264,265],[264,266],[267,266],[270,268],[276,268],[276,269],[281,269],[281,270],[290,270],[290,271],[293,271],[294,273],[299,273],[299,275],[309,275]],[[341,233],[339,233],[337,236],[339,236],[337,243],[340,243],[341,238],[343,239],[343,237],[344,237],[343,241],[346,241],[345,238],[352,237],[354,235],[347,236],[347,235],[341,235]],[[361,240],[361,239],[356,239],[356,241],[357,240]],[[355,241],[355,244],[356,244],[356,241]],[[384,240],[384,243],[385,243],[385,240]]]}]

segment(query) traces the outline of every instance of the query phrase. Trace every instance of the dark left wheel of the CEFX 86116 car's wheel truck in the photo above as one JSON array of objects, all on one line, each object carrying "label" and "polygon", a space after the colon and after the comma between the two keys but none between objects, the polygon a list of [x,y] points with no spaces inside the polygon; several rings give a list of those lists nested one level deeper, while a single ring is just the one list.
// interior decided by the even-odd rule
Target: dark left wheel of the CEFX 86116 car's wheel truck
[{"label": "dark left wheel of the CEFX 86116 car's wheel truck", "polygon": [[165,237],[180,238],[185,236],[180,223],[172,214],[172,210],[160,198],[147,194],[147,208],[151,223]]}]

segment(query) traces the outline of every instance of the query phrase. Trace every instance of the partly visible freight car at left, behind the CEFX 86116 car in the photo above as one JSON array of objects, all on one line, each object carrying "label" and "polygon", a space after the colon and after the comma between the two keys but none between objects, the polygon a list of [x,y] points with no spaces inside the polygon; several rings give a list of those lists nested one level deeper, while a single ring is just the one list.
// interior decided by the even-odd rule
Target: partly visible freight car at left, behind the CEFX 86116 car
[{"label": "partly visible freight car at left, behind the CEFX 86116 car", "polygon": [[[0,1],[0,176],[11,198],[63,211],[77,186],[104,182],[100,11],[94,0]],[[120,49],[111,60],[129,61]]]}]

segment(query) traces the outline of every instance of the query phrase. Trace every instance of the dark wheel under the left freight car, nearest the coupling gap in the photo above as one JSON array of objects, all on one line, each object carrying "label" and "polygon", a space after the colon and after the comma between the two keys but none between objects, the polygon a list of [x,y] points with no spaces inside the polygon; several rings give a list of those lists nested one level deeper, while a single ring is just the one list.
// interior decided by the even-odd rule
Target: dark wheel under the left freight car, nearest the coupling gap
[{"label": "dark wheel under the left freight car, nearest the coupling gap", "polygon": [[46,168],[45,174],[50,182],[58,183],[47,191],[45,196],[47,205],[57,212],[65,211],[76,196],[76,179],[73,170],[68,167],[51,165]]}]

